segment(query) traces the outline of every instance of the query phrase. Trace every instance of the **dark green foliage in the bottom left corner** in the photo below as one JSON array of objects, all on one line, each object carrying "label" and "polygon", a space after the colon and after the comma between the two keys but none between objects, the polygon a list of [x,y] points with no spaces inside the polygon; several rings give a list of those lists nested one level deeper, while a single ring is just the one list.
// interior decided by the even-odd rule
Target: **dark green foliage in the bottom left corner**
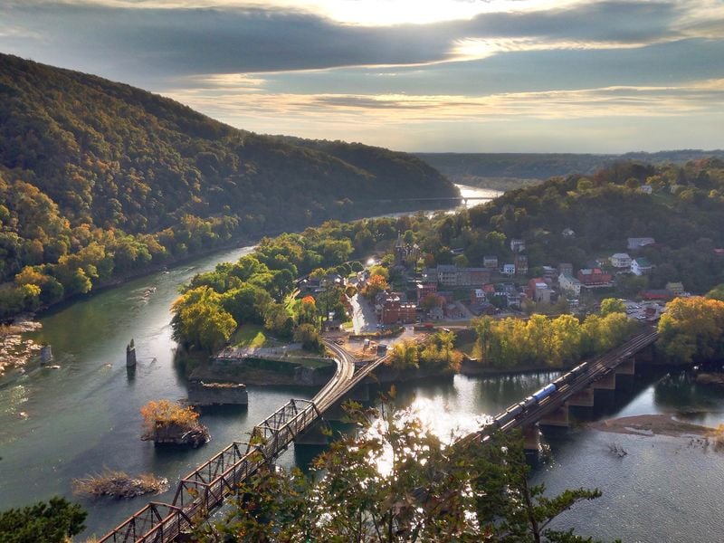
[{"label": "dark green foliage in the bottom left corner", "polygon": [[81,533],[87,513],[78,504],[54,497],[48,502],[0,512],[0,543],[64,543]]}]

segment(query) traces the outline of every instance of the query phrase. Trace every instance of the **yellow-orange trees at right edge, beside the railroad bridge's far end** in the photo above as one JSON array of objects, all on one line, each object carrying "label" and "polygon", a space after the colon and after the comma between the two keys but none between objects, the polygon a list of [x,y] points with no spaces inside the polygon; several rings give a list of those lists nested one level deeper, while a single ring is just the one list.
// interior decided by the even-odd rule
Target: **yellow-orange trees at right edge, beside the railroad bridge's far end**
[{"label": "yellow-orange trees at right edge, beside the railroad bridge's far end", "polygon": [[707,364],[724,358],[724,301],[676,298],[659,320],[657,345],[672,364]]}]

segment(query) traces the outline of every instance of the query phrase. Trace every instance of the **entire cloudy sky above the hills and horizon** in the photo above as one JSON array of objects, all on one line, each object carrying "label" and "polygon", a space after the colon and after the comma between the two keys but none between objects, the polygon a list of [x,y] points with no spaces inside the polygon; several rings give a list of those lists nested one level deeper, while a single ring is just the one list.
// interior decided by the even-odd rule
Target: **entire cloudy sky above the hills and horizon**
[{"label": "entire cloudy sky above the hills and horizon", "polygon": [[264,134],[724,148],[724,0],[0,0],[0,52]]}]

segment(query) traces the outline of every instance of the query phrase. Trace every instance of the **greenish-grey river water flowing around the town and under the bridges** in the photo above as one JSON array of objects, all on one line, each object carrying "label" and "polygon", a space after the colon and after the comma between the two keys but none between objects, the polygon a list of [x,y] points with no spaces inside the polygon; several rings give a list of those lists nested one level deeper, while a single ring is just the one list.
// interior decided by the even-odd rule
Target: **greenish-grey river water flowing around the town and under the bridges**
[{"label": "greenish-grey river water flowing around the town and under the bridges", "polygon": [[[480,194],[480,193],[477,193]],[[31,363],[24,376],[0,383],[0,510],[60,494],[89,510],[83,536],[102,535],[148,497],[87,500],[71,494],[71,481],[104,468],[167,477],[171,489],[153,500],[170,501],[176,482],[233,441],[246,441],[254,424],[291,397],[315,390],[249,387],[249,406],[202,412],[213,441],[196,450],[166,450],[139,439],[138,409],[148,400],[186,397],[184,380],[172,363],[169,308],[178,286],[195,273],[252,251],[219,252],[167,272],[131,281],[46,315],[31,336],[52,346],[53,364]],[[133,338],[138,367],[129,376],[125,347]],[[400,401],[413,405],[443,435],[471,431],[486,414],[498,413],[550,382],[557,374],[454,376],[399,386]],[[724,399],[716,390],[681,376],[637,376],[616,392],[594,418],[628,414],[680,413],[698,424],[724,422]],[[724,520],[724,455],[683,438],[601,433],[577,424],[546,436],[548,454],[534,470],[551,491],[598,487],[604,497],[577,506],[557,519],[597,538],[624,541],[719,541]],[[612,454],[615,443],[628,452]],[[291,448],[280,464],[309,458]]]}]

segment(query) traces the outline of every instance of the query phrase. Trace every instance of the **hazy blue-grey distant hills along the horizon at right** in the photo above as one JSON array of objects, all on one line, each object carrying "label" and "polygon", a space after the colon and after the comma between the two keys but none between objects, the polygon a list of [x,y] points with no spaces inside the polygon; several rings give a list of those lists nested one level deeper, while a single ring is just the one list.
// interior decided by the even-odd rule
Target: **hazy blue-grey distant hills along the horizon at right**
[{"label": "hazy blue-grey distant hills along the horizon at right", "polygon": [[658,153],[586,155],[574,153],[415,153],[455,183],[509,190],[535,185],[549,177],[591,175],[616,162],[682,165],[709,157],[724,158],[724,150],[682,149]]}]

